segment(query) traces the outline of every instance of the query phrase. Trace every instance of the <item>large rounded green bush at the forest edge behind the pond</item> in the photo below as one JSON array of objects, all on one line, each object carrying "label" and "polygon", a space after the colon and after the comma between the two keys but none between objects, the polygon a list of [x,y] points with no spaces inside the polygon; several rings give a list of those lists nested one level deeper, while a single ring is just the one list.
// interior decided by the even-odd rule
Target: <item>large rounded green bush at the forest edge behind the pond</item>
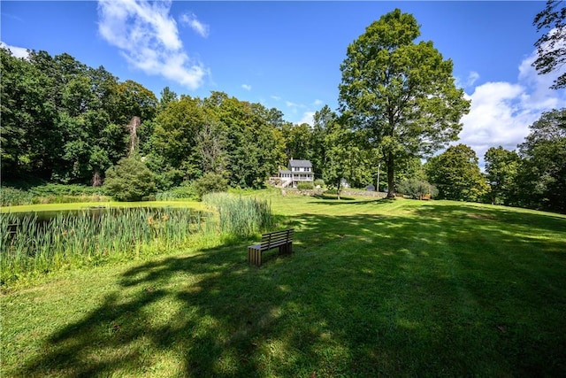
[{"label": "large rounded green bush at the forest edge behind the pond", "polygon": [[118,201],[140,201],[157,191],[154,174],[136,158],[122,158],[108,169],[104,189]]}]

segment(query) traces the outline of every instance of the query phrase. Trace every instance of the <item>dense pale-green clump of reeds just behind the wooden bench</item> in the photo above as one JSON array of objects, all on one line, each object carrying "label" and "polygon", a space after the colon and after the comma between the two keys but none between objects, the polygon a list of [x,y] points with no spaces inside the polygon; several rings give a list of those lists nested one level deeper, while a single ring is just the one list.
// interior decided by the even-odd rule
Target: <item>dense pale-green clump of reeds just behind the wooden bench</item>
[{"label": "dense pale-green clump of reeds just behind the wooden bench", "polygon": [[203,196],[203,202],[218,211],[221,234],[247,237],[274,226],[272,205],[266,200],[209,193]]}]

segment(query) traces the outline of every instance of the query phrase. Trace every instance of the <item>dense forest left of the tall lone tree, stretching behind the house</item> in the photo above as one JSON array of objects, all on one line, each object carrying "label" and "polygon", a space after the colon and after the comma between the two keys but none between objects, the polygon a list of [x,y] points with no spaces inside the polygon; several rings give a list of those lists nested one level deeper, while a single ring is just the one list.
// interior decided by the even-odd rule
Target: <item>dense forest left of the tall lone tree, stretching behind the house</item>
[{"label": "dense forest left of the tall lone tree, stretching behind the house", "polygon": [[340,175],[363,185],[376,174],[371,153],[329,144],[350,141],[335,130],[337,115],[328,106],[314,127],[294,125],[276,108],[223,92],[198,98],[165,88],[157,99],[141,84],[68,54],[0,53],[4,182],[34,177],[97,186],[123,158],[141,160],[157,191],[206,174],[232,187],[260,188],[290,158],[310,159],[317,178],[328,181]]}]

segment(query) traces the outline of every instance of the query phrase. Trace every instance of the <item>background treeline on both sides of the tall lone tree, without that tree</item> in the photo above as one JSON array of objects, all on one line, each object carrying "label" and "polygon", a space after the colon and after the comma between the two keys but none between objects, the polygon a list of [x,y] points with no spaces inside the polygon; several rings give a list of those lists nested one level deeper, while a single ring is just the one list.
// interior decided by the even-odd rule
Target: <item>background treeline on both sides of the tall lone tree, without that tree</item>
[{"label": "background treeline on both sides of the tall lone tree, without that tree", "polygon": [[[261,188],[289,158],[310,159],[315,178],[334,187],[342,178],[353,187],[377,185],[386,172],[383,150],[326,105],[312,126],[294,125],[276,108],[223,92],[199,98],[165,88],[157,98],[137,82],[119,81],[68,54],[0,54],[3,186],[30,178],[104,183],[131,199],[183,187],[201,194]],[[463,144],[424,165],[414,156],[396,159],[394,186],[415,197],[433,192],[566,212],[565,119],[564,109],[547,112],[517,151],[488,150],[485,173]],[[128,174],[145,186],[126,196],[132,190],[126,184],[136,180]],[[379,189],[386,187],[382,178]]]}]

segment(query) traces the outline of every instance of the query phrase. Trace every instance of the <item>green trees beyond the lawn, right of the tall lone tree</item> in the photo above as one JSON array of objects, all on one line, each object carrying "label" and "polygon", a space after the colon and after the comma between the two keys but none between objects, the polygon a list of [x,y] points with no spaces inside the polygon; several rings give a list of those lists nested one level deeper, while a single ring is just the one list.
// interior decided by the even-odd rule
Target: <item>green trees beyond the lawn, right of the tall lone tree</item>
[{"label": "green trees beyond the lawn, right of the tall lone tree", "polygon": [[430,158],[420,178],[439,198],[566,212],[566,109],[543,113],[530,129],[516,150],[487,150],[485,173],[474,150],[459,144]]}]

